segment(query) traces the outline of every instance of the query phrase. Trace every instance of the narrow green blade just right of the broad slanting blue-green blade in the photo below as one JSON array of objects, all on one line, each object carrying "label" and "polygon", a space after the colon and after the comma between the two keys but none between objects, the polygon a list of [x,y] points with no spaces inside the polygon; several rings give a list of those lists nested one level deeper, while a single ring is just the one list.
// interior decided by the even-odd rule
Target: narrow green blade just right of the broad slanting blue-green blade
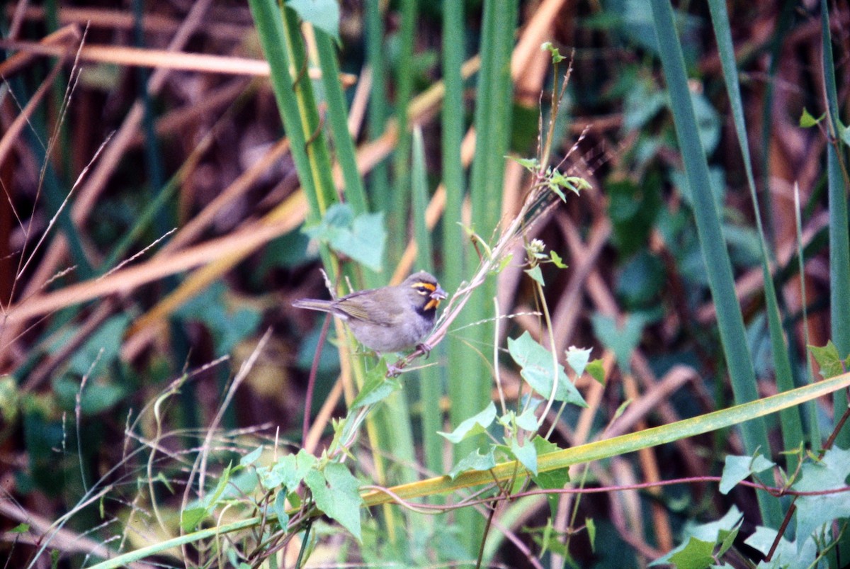
[{"label": "narrow green blade just right of the broad slanting blue-green blade", "polygon": [[[762,225],[762,214],[759,208],[758,195],[756,192],[756,180],[752,174],[752,159],[750,146],[747,144],[746,123],[744,120],[744,105],[741,102],[740,85],[738,83],[738,68],[735,65],[734,48],[732,45],[732,31],[729,26],[729,17],[726,3],[723,0],[710,0],[711,25],[714,27],[714,35],[717,38],[717,49],[720,54],[720,63],[723,66],[723,80],[726,83],[726,93],[729,105],[732,107],[732,117],[735,124],[735,132],[738,134],[738,145],[740,145],[741,156],[744,159],[744,169],[747,184],[750,186],[750,199],[753,204],[753,213],[756,216],[756,228],[758,231],[758,243],[762,252],[762,276],[764,280],[764,298],[767,303],[765,310],[768,315],[768,329],[770,331],[771,356],[774,361],[774,372],[776,373],[776,385],[779,391],[794,389],[794,377],[791,373],[791,358],[788,355],[790,349],[785,344],[784,330],[779,315],[779,302],[776,297],[774,278],[770,272],[770,261],[772,255],[768,249],[765,239],[764,227]],[[779,421],[782,424],[782,441],[785,450],[791,450],[800,445],[803,440],[802,418],[800,410],[796,407],[785,409],[779,413]],[[819,446],[819,441],[818,441]],[[815,446],[814,448],[817,448]],[[767,449],[765,449],[767,451]],[[794,471],[799,462],[799,456],[791,453],[785,455],[787,468]]]}]

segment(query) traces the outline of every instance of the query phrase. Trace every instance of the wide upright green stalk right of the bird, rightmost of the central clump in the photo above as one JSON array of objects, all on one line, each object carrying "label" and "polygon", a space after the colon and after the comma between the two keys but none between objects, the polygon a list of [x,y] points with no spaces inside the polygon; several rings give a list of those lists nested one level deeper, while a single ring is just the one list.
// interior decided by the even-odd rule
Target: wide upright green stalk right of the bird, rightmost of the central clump
[{"label": "wide upright green stalk right of the bird, rightmost of the central clump", "polygon": [[[484,241],[495,235],[501,216],[501,190],[504,179],[504,156],[507,154],[511,130],[512,83],[510,75],[513,34],[516,27],[518,3],[516,0],[487,0],[484,2],[481,31],[481,72],[476,90],[475,156],[472,164],[470,199],[472,202],[473,230]],[[478,265],[476,250],[467,247],[467,266]],[[496,296],[496,279],[490,276],[480,290],[469,299],[461,325],[486,321],[492,316],[491,299]],[[458,366],[452,366],[449,378],[451,424],[479,413],[490,401],[491,378],[482,365],[482,354],[489,354],[486,346],[493,341],[493,323],[469,328],[466,337],[471,349],[463,350]],[[488,356],[484,356],[484,360]],[[453,362],[452,362],[453,363]],[[476,441],[468,439],[455,447],[455,459],[467,456]],[[477,551],[481,542],[484,520],[473,509],[457,513],[457,523],[464,528],[462,543],[468,551]]]}]

